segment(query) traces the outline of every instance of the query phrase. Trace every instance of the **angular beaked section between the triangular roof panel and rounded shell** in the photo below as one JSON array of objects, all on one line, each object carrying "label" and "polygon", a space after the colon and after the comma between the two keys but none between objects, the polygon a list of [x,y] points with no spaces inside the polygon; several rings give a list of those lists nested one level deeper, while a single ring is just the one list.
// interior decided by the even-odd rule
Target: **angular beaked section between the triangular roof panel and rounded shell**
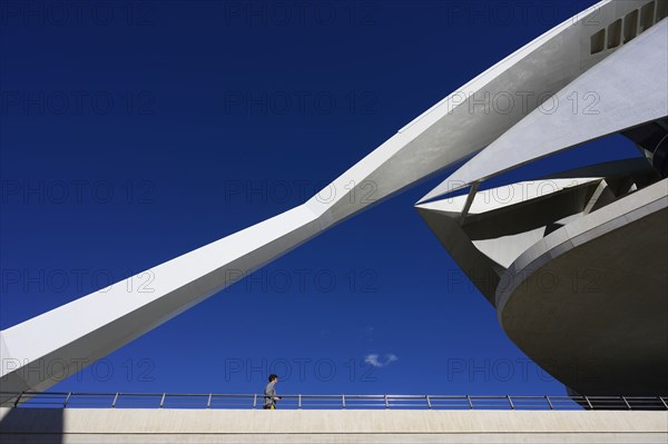
[{"label": "angular beaked section between the triangular roof panel and rounded shell", "polygon": [[570,224],[591,213],[588,209],[611,204],[631,185],[642,188],[658,180],[660,176],[647,159],[638,157],[487,190],[471,189],[468,195],[416,204],[415,209],[495,307],[500,276],[548,227]]}]

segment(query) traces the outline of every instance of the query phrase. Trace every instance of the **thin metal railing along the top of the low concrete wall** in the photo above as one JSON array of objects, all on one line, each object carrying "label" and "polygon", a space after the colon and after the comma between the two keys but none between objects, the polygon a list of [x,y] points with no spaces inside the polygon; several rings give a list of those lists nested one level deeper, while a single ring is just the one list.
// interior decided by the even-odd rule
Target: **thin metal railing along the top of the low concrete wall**
[{"label": "thin metal railing along the top of the low concrete wall", "polygon": [[[668,410],[666,396],[279,395],[282,410]],[[0,392],[19,408],[263,408],[264,394]],[[9,402],[7,402],[9,399]]]}]

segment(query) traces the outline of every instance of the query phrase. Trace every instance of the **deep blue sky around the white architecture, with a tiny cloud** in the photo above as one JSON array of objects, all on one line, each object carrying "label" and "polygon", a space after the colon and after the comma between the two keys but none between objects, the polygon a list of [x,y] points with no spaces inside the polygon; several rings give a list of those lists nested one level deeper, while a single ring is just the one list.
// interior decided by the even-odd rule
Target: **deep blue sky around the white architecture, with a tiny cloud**
[{"label": "deep blue sky around the white architecture, with a tiny cloud", "polygon": [[[303,203],[592,3],[3,2],[0,327]],[[522,174],[630,156],[611,137]],[[448,172],[51,389],[563,394],[413,209]]]}]

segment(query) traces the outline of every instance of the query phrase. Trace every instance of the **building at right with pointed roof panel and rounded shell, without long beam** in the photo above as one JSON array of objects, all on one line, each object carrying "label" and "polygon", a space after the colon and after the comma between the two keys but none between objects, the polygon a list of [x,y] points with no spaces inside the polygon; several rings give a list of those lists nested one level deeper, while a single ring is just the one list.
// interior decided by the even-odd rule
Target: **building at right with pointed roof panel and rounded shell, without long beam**
[{"label": "building at right with pointed roof panel and rounded shell, without long beam", "polygon": [[[509,337],[589,395],[668,393],[668,20],[649,26],[667,3],[601,23],[592,52],[619,48],[619,29],[626,45],[416,205]],[[570,99],[588,95],[596,107],[573,108]],[[509,169],[611,134],[651,164],[599,164],[479,191]]]}]

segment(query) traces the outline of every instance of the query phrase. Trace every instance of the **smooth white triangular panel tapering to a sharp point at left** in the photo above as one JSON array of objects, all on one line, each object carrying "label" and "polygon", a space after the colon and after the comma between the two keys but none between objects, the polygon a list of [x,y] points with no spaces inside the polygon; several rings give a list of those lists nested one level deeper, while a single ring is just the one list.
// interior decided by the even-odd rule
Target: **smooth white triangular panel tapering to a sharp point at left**
[{"label": "smooth white triangular panel tapering to a sharp point at left", "polygon": [[509,129],[420,203],[577,145],[668,116],[668,19]]}]

